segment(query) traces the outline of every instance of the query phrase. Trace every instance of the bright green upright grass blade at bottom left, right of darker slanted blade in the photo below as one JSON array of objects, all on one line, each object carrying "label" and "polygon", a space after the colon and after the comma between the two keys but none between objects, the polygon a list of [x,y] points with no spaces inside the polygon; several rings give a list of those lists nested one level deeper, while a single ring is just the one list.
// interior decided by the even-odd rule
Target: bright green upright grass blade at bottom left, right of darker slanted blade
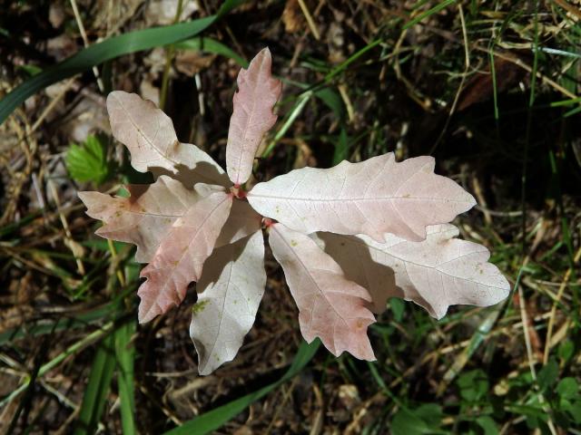
[{"label": "bright green upright grass blade at bottom left, right of darker slanted blade", "polygon": [[117,384],[119,387],[119,402],[121,404],[121,426],[123,435],[137,433],[135,429],[135,391],[133,370],[135,348],[130,343],[135,332],[135,323],[123,324],[114,333],[115,356],[117,358]]}]

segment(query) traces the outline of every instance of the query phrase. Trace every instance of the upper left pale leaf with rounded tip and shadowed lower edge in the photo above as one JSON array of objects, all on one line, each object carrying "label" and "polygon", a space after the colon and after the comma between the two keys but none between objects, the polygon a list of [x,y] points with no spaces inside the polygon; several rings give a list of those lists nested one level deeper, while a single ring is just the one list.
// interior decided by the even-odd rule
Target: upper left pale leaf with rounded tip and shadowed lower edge
[{"label": "upper left pale leaf with rounded tip and shadowed lower edge", "polygon": [[133,168],[150,170],[154,177],[171,175],[187,187],[198,182],[231,185],[208,154],[178,140],[172,120],[153,102],[135,93],[114,91],[107,97],[107,111],[113,136],[131,152]]}]

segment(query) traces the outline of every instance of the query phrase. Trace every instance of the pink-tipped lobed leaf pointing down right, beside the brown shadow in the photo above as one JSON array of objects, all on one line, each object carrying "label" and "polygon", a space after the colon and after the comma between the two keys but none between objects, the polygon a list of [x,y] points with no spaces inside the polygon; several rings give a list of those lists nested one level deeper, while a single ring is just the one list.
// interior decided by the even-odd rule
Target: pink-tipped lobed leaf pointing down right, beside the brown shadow
[{"label": "pink-tipped lobed leaf pointing down right, beside the brown shadow", "polygon": [[308,236],[274,224],[269,244],[299,307],[305,340],[310,343],[320,337],[335,356],[347,351],[362,360],[375,360],[367,336],[369,324],[375,322],[367,290],[348,280],[335,260]]}]

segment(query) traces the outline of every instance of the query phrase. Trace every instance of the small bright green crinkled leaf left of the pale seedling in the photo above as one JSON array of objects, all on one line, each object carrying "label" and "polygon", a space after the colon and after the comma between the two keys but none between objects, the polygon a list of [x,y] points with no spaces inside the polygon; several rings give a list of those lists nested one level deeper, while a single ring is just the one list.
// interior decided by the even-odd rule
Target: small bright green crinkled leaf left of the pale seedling
[{"label": "small bright green crinkled leaf left of the pale seedling", "polygon": [[75,181],[93,181],[99,185],[112,172],[112,165],[107,162],[104,140],[97,136],[89,136],[81,145],[71,144],[64,161]]}]

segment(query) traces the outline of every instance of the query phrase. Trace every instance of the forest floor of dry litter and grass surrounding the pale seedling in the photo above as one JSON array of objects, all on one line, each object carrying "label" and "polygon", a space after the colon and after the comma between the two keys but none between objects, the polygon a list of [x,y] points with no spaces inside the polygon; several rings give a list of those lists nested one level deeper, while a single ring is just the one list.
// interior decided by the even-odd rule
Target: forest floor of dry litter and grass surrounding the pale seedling
[{"label": "forest floor of dry litter and grass surrounding the pale seedling", "polygon": [[[581,434],[581,2],[247,2],[186,42],[90,51],[220,6],[0,1],[0,430]],[[77,197],[147,182],[106,93],[161,104],[223,163],[236,75],[265,46],[283,93],[256,177],[432,155],[477,198],[454,223],[491,251],[506,301],[437,321],[392,299],[369,328],[378,361],[335,358],[301,344],[267,256],[256,324],[212,375],[197,374],[194,291],[137,324],[134,249],[94,236]]]}]

